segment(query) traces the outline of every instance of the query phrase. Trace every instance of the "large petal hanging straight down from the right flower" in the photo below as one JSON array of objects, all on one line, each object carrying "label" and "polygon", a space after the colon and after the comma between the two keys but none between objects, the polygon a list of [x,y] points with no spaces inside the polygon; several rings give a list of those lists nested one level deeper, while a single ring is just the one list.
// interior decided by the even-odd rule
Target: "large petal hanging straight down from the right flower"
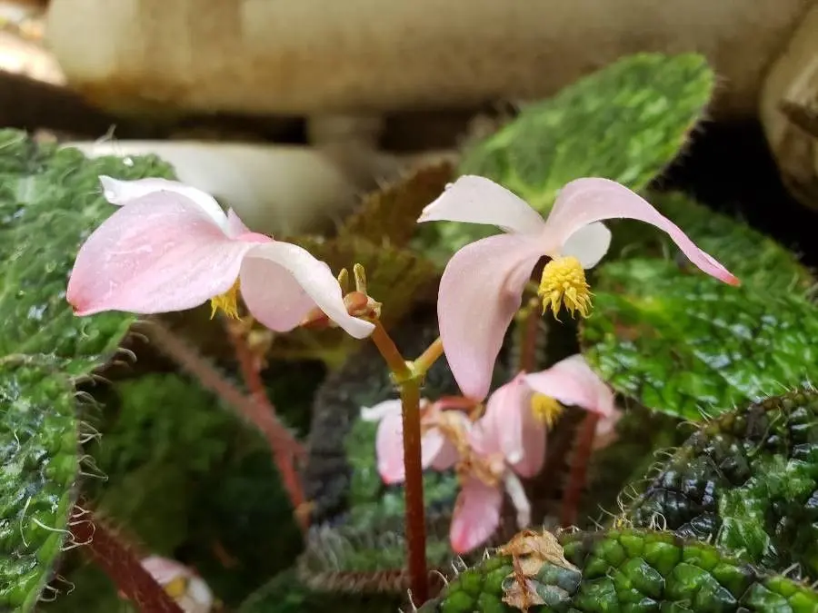
[{"label": "large petal hanging straight down from the right flower", "polygon": [[446,360],[465,396],[483,400],[505,331],[542,255],[539,240],[499,234],[456,252],[440,281],[437,315]]}]

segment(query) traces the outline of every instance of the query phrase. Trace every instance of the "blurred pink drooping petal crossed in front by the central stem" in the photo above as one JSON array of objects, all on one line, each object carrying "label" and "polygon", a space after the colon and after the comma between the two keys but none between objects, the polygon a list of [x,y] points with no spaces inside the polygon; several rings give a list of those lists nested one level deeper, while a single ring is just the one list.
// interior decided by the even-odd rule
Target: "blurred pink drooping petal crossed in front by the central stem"
[{"label": "blurred pink drooping petal crossed in front by the central stem", "polygon": [[[375,435],[378,473],[386,484],[400,483],[406,478],[404,470],[404,423],[401,415],[401,401],[397,410],[384,414]],[[390,408],[391,409],[391,408]],[[454,451],[454,456],[453,456]],[[421,465],[424,469],[434,466],[436,470],[451,468],[457,460],[454,446],[435,428],[426,430],[421,437]]]}]

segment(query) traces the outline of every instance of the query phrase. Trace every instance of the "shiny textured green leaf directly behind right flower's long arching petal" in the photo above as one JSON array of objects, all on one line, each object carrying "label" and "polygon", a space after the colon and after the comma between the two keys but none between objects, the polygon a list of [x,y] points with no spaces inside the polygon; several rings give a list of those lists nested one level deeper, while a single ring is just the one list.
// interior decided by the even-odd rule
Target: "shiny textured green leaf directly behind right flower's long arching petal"
[{"label": "shiny textured green leaf directly behind right flower's long arching petal", "polygon": [[[675,247],[661,232],[620,222],[624,259],[594,270],[594,312],[583,352],[617,391],[689,420],[726,410],[818,375],[818,310],[809,272],[781,245],[681,194],[653,198],[704,249],[742,280],[735,288],[663,259]],[[638,233],[637,233],[638,232]]]}]

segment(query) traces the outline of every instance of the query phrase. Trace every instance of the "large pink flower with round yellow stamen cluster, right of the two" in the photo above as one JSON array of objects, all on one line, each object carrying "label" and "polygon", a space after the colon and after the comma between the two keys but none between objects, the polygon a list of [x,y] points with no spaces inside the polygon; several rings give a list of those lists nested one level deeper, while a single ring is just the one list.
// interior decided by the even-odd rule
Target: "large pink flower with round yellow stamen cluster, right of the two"
[{"label": "large pink flower with round yellow stamen cluster, right of the two", "polygon": [[699,269],[739,284],[731,272],[700,250],[673,222],[619,183],[586,178],[567,183],[547,220],[504,187],[479,176],[463,176],[424,208],[418,222],[485,223],[504,234],[472,242],[446,265],[437,302],[446,359],[464,395],[483,400],[505,331],[522,302],[524,286],[543,256],[540,296],[554,315],[564,302],[587,315],[590,292],[584,269],[607,252],[611,232],[601,220],[635,219],[673,239]]}]

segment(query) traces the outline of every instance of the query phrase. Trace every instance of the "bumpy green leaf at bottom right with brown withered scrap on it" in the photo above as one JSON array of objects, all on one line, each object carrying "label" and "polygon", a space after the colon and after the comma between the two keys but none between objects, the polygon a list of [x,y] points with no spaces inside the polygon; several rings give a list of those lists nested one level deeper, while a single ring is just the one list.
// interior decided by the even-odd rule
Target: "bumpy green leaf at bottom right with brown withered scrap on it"
[{"label": "bumpy green leaf at bottom right with brown withered scrap on it", "polygon": [[[531,613],[814,613],[818,593],[740,557],[670,532],[623,529],[564,533],[564,562],[542,560],[524,583],[547,604]],[[484,559],[449,581],[420,613],[513,613],[503,602],[517,579],[511,557]],[[518,558],[523,561],[523,558]],[[526,561],[537,561],[530,556]],[[522,567],[522,565],[521,565]],[[523,567],[524,568],[524,567]]]}]

